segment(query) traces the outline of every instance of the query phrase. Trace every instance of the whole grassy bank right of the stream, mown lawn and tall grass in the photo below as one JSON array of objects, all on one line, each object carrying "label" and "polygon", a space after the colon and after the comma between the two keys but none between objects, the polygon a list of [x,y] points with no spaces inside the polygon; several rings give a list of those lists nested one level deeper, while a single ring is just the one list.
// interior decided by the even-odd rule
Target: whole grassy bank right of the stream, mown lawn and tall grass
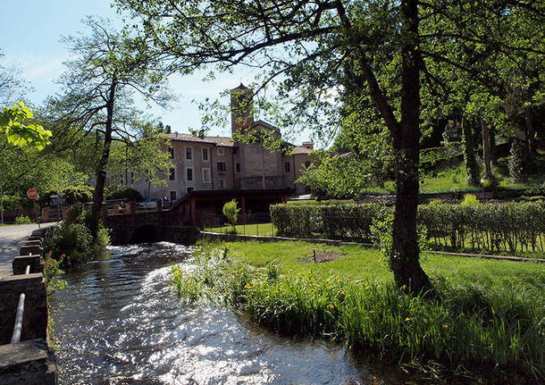
[{"label": "whole grassy bank right of the stream, mown lawn and tall grass", "polygon": [[[337,258],[314,264],[314,251]],[[396,289],[380,259],[362,247],[229,242],[202,247],[200,269],[176,267],[172,282],[189,300],[221,298],[274,330],[340,339],[446,383],[543,380],[544,266],[428,255],[437,295],[423,298]]]}]

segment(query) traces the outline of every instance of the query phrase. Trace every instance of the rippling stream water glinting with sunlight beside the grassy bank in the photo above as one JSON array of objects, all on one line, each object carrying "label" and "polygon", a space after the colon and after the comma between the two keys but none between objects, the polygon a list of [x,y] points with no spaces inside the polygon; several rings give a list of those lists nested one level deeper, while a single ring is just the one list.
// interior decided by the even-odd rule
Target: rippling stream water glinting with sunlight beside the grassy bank
[{"label": "rippling stream water glinting with sunlight beside the grassy bank", "polygon": [[383,384],[339,345],[281,337],[231,310],[183,305],[169,264],[190,249],[111,247],[50,299],[61,384]]}]

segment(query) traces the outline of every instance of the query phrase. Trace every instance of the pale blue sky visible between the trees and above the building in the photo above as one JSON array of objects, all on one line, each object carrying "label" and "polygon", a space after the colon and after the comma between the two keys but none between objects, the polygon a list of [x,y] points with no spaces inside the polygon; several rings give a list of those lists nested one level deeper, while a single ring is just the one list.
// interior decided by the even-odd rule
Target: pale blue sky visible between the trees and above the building
[{"label": "pale blue sky visible between the trees and above the building", "polygon": [[[60,42],[61,37],[85,30],[81,21],[88,15],[109,18],[114,25],[122,25],[122,16],[110,6],[110,0],[0,0],[0,4],[0,50],[4,52],[1,63],[21,69],[21,78],[33,88],[26,97],[34,105],[40,105],[47,96],[60,91],[55,81],[65,70],[63,62],[70,56]],[[153,106],[149,113],[165,125],[171,125],[172,131],[198,129],[201,117],[197,104],[192,101],[202,102],[206,97],[214,100],[225,89],[236,88],[241,82],[251,83],[253,74],[239,70],[233,74],[216,74],[213,81],[204,82],[203,78],[204,73],[173,76],[169,83],[178,101],[170,110]],[[231,136],[231,128],[212,128],[208,134]],[[309,133],[304,131],[299,138],[291,138],[291,142],[299,145],[308,137]]]}]

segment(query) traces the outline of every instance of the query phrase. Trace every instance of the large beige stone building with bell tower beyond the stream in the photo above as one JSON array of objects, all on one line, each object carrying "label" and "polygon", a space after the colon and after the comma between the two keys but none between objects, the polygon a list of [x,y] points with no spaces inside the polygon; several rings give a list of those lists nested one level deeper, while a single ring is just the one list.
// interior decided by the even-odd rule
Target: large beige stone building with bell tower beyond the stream
[{"label": "large beige stone building with bell tower beyond the stream", "polygon": [[[265,121],[254,121],[253,91],[242,84],[231,90],[231,133],[260,135],[280,139],[281,132]],[[194,134],[167,134],[171,141],[172,170],[165,176],[167,186],[155,186],[141,180],[134,188],[143,197],[167,197],[171,202],[198,190],[262,190],[292,188],[296,194],[306,187],[295,180],[308,167],[313,150],[311,142],[303,146],[283,143],[291,149],[271,151],[260,142],[243,143],[232,137]],[[286,148],[288,147],[288,148]]]}]

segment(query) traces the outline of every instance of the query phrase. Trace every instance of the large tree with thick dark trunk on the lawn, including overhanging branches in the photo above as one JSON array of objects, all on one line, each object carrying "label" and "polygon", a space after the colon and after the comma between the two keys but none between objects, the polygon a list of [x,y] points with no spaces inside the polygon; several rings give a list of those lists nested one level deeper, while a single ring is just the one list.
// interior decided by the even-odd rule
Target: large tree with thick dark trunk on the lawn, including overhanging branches
[{"label": "large tree with thick dark trunk on the lawn, including overhanging branches", "polygon": [[[460,40],[478,39],[493,46],[501,37],[494,35],[489,41],[473,27],[487,19],[500,21],[514,9],[532,11],[507,0],[494,4],[116,0],[116,4],[140,18],[140,26],[134,28],[141,33],[141,44],[169,57],[174,70],[190,72],[210,64],[220,71],[236,65],[263,69],[257,91],[276,84],[279,96],[289,96],[292,120],[285,121],[290,123],[306,119],[315,127],[320,112],[335,112],[331,91],[342,91],[342,78],[370,96],[390,132],[393,149],[396,207],[390,267],[399,287],[431,288],[418,262],[416,236],[421,79],[433,79],[430,63],[456,64],[442,52],[441,41],[459,35]],[[529,6],[542,11],[541,5]],[[436,28],[432,31],[426,29],[431,21]],[[469,28],[460,29],[465,23]]]}]

